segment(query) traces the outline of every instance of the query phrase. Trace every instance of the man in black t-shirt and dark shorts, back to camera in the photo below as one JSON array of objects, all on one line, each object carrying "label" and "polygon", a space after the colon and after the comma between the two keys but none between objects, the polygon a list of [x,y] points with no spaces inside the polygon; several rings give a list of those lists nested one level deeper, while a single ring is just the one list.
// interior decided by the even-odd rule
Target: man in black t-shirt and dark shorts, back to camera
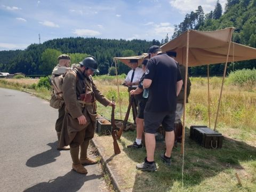
[{"label": "man in black t-shirt and dark shorts, back to camera", "polygon": [[161,124],[165,129],[166,144],[166,151],[161,154],[161,159],[165,164],[171,165],[177,95],[183,82],[174,59],[163,53],[159,46],[151,46],[148,52],[151,59],[148,60],[143,81],[143,89],[149,89],[144,111],[147,157],[145,162],[136,167],[142,171],[156,171],[157,167],[154,162],[155,133]]}]

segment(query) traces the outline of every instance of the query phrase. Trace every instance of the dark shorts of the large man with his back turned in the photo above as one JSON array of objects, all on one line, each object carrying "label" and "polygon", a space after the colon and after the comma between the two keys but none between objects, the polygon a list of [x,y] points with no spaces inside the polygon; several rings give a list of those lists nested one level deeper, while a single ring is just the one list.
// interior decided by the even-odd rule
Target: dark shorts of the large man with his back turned
[{"label": "dark shorts of the large man with his back turned", "polygon": [[156,133],[158,127],[162,124],[167,132],[173,131],[175,121],[175,111],[151,113],[144,111],[144,124],[146,133]]}]

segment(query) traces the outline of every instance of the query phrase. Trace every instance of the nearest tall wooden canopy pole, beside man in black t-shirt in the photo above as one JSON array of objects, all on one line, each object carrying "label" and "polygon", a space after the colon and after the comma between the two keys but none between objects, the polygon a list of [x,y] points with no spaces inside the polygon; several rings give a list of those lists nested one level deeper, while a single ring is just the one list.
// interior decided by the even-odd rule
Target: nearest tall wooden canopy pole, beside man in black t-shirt
[{"label": "nearest tall wooden canopy pole, beside man in black t-shirt", "polygon": [[185,144],[185,119],[186,119],[186,100],[187,100],[187,80],[188,80],[188,50],[189,50],[189,31],[187,32],[187,53],[186,53],[186,73],[185,73],[185,88],[184,88],[184,110],[183,110],[183,129],[182,129],[182,142],[181,142],[181,154],[184,153]]}]

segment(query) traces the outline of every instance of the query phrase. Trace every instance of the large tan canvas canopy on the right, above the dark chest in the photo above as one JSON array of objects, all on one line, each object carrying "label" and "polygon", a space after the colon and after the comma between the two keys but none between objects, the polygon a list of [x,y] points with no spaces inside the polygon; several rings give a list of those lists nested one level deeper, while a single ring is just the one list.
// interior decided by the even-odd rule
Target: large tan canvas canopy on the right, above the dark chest
[{"label": "large tan canvas canopy on the right, above the dark chest", "polygon": [[[215,31],[189,30],[188,66],[226,62],[229,36],[233,28]],[[176,60],[185,65],[188,31],[161,46],[163,52],[177,52]],[[256,59],[256,49],[231,42],[228,62]]]}]

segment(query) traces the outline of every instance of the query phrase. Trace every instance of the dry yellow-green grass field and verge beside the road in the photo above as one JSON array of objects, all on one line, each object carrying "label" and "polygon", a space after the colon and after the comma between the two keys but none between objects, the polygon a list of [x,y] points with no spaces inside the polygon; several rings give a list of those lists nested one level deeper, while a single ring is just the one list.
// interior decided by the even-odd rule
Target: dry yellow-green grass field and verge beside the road
[{"label": "dry yellow-green grass field and verge beside the road", "polygon": [[[123,79],[119,79],[121,84]],[[20,82],[23,81],[23,82]],[[11,89],[26,89],[50,98],[50,91],[45,89],[29,89],[34,79],[0,79],[0,86]],[[95,77],[95,84],[109,99],[117,102],[117,119],[121,118],[119,109],[116,78],[107,76]],[[124,132],[118,141],[122,153],[111,160],[111,164],[121,167],[118,174],[123,177],[122,189],[128,191],[256,191],[256,87],[234,86],[227,81],[223,89],[217,131],[225,136],[221,149],[205,149],[189,139],[190,125],[207,125],[208,97],[207,78],[191,78],[191,93],[186,106],[185,153],[182,174],[182,155],[180,145],[172,153],[172,166],[165,166],[159,154],[163,153],[164,145],[157,142],[155,161],[158,171],[155,173],[141,172],[135,169],[146,156],[145,148],[140,150],[127,149],[126,146],[135,139],[135,131]],[[210,78],[210,111],[211,128],[214,127],[221,78]],[[32,86],[33,87],[33,86]],[[122,119],[128,105],[126,87],[119,86]],[[98,105],[98,113],[109,118],[110,107]],[[129,121],[132,122],[132,115]],[[96,135],[106,149],[106,156],[113,156],[113,141],[110,136]],[[241,177],[242,186],[237,184],[235,173]],[[183,184],[182,184],[183,175]],[[246,176],[244,176],[246,175]],[[182,187],[183,186],[183,187]]]}]

